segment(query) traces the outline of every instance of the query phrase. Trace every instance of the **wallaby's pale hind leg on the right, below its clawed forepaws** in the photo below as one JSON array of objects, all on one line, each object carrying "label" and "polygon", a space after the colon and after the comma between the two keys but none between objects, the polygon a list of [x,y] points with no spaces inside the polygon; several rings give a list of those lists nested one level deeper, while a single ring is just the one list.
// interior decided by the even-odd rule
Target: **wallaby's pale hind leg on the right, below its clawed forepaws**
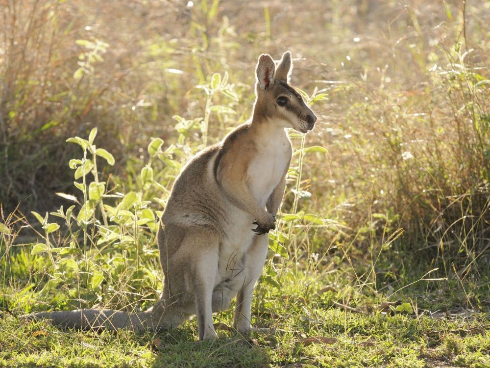
[{"label": "wallaby's pale hind leg on the right, below its clawed forepaws", "polygon": [[233,321],[233,327],[240,332],[253,330],[250,324],[253,288],[266,261],[268,242],[269,236],[267,234],[256,235],[246,254],[246,277],[242,289],[237,294],[237,306],[235,307]]}]

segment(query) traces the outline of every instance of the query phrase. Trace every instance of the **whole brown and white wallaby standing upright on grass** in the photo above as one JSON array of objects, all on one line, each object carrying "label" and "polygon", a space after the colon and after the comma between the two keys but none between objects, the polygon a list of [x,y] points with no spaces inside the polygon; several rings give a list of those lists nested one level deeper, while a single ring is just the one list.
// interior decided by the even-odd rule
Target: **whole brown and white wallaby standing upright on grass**
[{"label": "whole brown and white wallaby standing upright on grass", "polygon": [[252,119],[198,153],[175,180],[157,234],[164,289],[151,309],[29,316],[77,329],[142,331],[177,327],[196,315],[199,340],[207,340],[216,338],[213,312],[229,308],[236,295],[234,328],[253,330],[253,288],[266,260],[267,233],[275,228],[293,152],[285,128],[306,133],[317,120],[289,85],[292,68],[290,52],[282,55],[277,70],[272,58],[262,54]]}]

